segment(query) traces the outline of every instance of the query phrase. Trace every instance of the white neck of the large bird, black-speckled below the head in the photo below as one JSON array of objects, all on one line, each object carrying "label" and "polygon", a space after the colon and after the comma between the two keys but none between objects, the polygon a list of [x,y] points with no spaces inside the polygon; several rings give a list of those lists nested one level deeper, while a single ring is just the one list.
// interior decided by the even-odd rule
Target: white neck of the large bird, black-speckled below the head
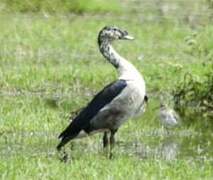
[{"label": "white neck of the large bird, black-speckled below the head", "polygon": [[138,70],[125,58],[120,56],[109,42],[102,42],[99,48],[103,56],[118,70],[119,79],[143,79]]}]

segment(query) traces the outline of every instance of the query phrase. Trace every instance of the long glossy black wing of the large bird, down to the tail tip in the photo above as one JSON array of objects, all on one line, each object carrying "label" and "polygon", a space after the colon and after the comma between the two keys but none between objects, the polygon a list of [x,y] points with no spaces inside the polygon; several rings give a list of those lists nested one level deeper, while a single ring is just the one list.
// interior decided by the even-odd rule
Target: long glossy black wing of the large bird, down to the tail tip
[{"label": "long glossy black wing of the large bird, down to the tail tip", "polygon": [[86,131],[90,126],[90,120],[105,105],[109,104],[117,95],[119,95],[126,86],[127,83],[125,80],[117,80],[100,91],[87,107],[82,109],[79,115],[75,117],[70,125],[59,135],[61,142],[57,146],[57,149],[59,150],[69,140],[75,138],[82,129]]}]

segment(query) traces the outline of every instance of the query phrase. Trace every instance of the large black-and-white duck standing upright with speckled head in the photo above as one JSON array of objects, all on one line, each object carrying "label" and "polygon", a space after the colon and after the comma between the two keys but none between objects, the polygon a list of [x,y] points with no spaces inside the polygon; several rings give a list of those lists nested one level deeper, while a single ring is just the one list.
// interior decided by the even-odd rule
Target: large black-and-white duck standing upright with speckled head
[{"label": "large black-and-white duck standing upright with speckled head", "polygon": [[[118,80],[101,90],[77,114],[59,135],[58,150],[70,140],[95,132],[103,132],[103,146],[115,143],[114,135],[128,119],[142,114],[148,101],[145,81],[140,72],[112,47],[115,40],[132,40],[128,32],[118,27],[104,27],[98,35],[102,55],[117,69]],[[104,70],[104,69],[103,69]],[[110,137],[108,135],[110,134]]]}]

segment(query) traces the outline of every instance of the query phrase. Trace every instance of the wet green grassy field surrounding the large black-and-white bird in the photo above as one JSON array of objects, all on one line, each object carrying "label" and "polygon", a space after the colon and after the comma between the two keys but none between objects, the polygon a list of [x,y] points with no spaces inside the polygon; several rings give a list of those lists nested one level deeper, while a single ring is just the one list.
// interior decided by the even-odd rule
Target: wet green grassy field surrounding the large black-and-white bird
[{"label": "wet green grassy field surrounding the large black-and-white bird", "polygon": [[[200,16],[192,27],[182,16],[167,15],[160,21],[141,22],[143,16],[137,12],[118,17],[1,13],[1,179],[211,179],[213,144],[208,124],[201,129],[182,124],[167,136],[157,121],[156,107],[160,93],[170,93],[185,73],[202,78],[209,72],[203,64],[210,61],[208,37],[213,27],[208,21],[200,24]],[[112,160],[97,134],[74,141],[73,150],[68,145],[70,159],[62,163],[55,147],[70,111],[84,106],[117,77],[96,42],[99,30],[111,24],[135,37],[114,46],[144,75],[149,106],[143,117],[121,127]],[[192,47],[188,38],[195,32],[199,43]],[[207,54],[203,49],[209,50]],[[177,154],[168,159],[164,151],[170,145]]]}]

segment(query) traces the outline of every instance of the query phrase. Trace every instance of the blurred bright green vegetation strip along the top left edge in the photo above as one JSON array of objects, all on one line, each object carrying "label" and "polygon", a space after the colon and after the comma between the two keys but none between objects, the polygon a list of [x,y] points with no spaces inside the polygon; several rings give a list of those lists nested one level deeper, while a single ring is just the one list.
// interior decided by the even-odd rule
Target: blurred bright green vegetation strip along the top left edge
[{"label": "blurred bright green vegetation strip along the top left edge", "polygon": [[119,3],[113,0],[2,0],[4,11],[12,12],[119,12]]}]

